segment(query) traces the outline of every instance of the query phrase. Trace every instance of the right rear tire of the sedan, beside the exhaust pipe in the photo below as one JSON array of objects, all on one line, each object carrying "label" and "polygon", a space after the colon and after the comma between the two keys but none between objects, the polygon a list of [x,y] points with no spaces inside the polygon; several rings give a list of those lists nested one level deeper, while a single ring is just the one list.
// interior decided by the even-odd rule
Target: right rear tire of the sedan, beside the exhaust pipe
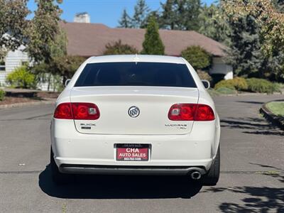
[{"label": "right rear tire of the sedan, beside the exhaust pipe", "polygon": [[202,178],[202,185],[217,185],[220,176],[220,146],[218,147],[216,158],[209,169],[209,172]]}]

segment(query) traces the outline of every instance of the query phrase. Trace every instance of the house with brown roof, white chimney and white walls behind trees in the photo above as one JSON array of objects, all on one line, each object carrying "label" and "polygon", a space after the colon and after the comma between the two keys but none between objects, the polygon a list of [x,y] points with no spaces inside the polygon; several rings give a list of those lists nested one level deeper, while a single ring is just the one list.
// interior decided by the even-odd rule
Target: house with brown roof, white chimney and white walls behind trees
[{"label": "house with brown roof, white chimney and white walls behind trees", "polygon": [[[102,55],[107,43],[121,40],[122,43],[133,45],[142,50],[145,29],[136,28],[109,28],[102,23],[89,23],[86,13],[78,13],[73,23],[61,22],[60,26],[66,31],[69,55],[84,57]],[[165,55],[180,56],[182,50],[190,45],[200,45],[213,56],[213,64],[209,70],[210,75],[221,75],[224,79],[233,78],[230,65],[226,64],[224,49],[226,46],[195,31],[159,30],[160,37],[165,45]],[[7,73],[16,67],[28,62],[28,55],[23,47],[10,51],[5,60],[0,62],[0,84],[5,84]],[[40,89],[46,90],[47,84],[41,84]]]}]

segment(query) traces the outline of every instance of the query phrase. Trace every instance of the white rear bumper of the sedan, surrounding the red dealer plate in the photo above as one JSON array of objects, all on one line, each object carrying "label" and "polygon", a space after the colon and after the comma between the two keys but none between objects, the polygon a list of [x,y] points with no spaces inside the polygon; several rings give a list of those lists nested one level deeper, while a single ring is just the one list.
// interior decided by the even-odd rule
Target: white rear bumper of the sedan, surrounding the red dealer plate
[{"label": "white rear bumper of the sedan, surrounding the red dealer plate", "polygon": [[[62,173],[181,174],[209,170],[219,146],[215,121],[194,124],[183,135],[100,135],[79,133],[73,121],[53,119],[51,141]],[[149,144],[148,161],[116,160],[116,144]],[[177,167],[182,167],[177,168]]]}]

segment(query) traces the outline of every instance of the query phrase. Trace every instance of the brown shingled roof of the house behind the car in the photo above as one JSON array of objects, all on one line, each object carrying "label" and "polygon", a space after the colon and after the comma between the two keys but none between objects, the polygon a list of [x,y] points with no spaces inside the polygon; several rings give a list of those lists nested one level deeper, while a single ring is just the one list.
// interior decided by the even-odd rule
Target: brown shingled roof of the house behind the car
[{"label": "brown shingled roof of the house behind the car", "polygon": [[[102,55],[107,43],[121,40],[142,50],[145,29],[109,28],[101,23],[60,23],[68,38],[69,55],[92,56]],[[214,56],[224,56],[226,48],[221,43],[195,31],[159,30],[165,45],[165,55],[178,56],[191,45],[200,45]]]}]

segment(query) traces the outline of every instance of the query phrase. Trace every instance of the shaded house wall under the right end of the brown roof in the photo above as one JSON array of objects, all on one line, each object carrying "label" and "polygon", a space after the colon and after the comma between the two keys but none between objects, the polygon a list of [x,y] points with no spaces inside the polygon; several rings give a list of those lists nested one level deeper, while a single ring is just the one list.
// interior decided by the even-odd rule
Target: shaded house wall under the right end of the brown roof
[{"label": "shaded house wall under the right end of the brown roof", "polygon": [[210,74],[224,74],[226,79],[233,78],[233,68],[227,65],[224,58],[214,57]]}]

